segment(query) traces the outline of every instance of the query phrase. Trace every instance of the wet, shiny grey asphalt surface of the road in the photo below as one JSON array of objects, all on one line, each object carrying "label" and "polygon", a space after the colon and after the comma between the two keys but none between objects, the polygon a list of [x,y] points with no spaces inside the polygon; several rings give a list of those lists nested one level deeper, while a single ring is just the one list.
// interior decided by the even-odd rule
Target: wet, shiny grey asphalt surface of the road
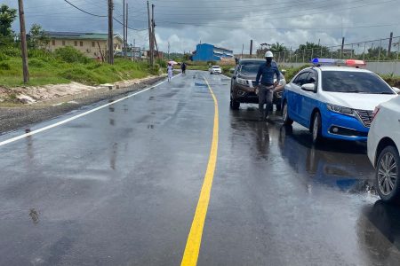
[{"label": "wet, shiny grey asphalt surface of the road", "polygon": [[0,265],[180,265],[215,126],[204,77],[219,137],[198,265],[400,265],[400,207],[376,196],[366,145],[313,147],[194,71],[0,146]]}]

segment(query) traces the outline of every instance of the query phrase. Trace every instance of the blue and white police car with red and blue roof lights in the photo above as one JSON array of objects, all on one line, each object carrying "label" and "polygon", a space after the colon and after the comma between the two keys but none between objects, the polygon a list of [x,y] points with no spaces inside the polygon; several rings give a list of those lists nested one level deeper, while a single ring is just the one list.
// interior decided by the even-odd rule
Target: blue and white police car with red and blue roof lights
[{"label": "blue and white police car with red and blue roof lights", "polygon": [[296,121],[308,128],[314,144],[324,137],[366,141],[375,106],[396,98],[396,90],[360,68],[363,60],[312,62],[315,66],[301,70],[284,87],[284,124]]}]

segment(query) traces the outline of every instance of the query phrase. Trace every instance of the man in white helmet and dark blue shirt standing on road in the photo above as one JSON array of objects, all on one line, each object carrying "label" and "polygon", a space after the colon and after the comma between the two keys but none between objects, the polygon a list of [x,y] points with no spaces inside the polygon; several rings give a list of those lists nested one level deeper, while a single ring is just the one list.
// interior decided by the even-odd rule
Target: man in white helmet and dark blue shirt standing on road
[{"label": "man in white helmet and dark blue shirt standing on road", "polygon": [[[256,86],[259,89],[259,112],[260,121],[265,121],[268,118],[270,106],[272,106],[272,100],[274,98],[274,89],[277,82],[274,82],[276,75],[276,81],[280,80],[281,73],[279,72],[278,66],[272,59],[274,55],[272,51],[265,53],[266,64],[262,64],[259,68],[256,78]],[[264,109],[264,105],[267,104]]]}]

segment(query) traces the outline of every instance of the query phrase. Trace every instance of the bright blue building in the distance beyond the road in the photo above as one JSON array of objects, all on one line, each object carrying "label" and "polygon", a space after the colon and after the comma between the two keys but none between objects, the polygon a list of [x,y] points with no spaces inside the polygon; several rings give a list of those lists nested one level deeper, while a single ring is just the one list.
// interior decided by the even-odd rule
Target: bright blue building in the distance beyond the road
[{"label": "bright blue building in the distance beyond the road", "polygon": [[220,61],[220,59],[233,59],[233,51],[215,47],[212,44],[197,44],[196,51],[193,52],[193,61]]}]

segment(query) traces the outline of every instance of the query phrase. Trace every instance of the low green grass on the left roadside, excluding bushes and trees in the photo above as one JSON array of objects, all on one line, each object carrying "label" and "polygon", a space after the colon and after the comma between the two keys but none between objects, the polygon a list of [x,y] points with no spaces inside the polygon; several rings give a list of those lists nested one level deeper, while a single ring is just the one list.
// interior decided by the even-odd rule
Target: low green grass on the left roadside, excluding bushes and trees
[{"label": "low green grass on the left roadside, excluding bushes and trees", "polygon": [[[55,58],[29,59],[30,80],[27,86],[82,82],[98,85],[143,78],[150,74],[147,63],[116,59],[115,65],[100,64],[89,60],[87,63],[68,63]],[[0,61],[0,86],[22,86],[22,62],[19,58],[8,57]]]}]

